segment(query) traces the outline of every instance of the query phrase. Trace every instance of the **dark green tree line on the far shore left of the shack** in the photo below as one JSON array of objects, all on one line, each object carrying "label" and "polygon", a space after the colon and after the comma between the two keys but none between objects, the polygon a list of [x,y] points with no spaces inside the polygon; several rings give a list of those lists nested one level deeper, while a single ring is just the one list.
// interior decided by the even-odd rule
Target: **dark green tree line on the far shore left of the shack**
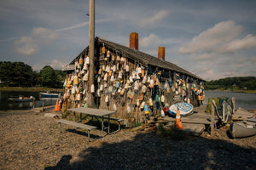
[{"label": "dark green tree line on the far shore left of the shack", "polygon": [[49,65],[37,72],[23,62],[0,61],[0,86],[62,88],[66,73]]}]

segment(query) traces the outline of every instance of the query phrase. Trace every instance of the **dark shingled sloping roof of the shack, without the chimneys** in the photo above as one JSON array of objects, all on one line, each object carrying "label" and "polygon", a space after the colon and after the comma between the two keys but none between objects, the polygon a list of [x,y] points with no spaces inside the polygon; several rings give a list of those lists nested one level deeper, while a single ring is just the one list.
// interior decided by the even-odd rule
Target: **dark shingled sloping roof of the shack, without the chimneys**
[{"label": "dark shingled sloping roof of the shack, without the chimneys", "polygon": [[[102,45],[103,43],[106,48],[112,48],[119,54],[125,54],[127,58],[137,60],[138,62],[141,62],[143,65],[154,65],[156,67],[159,67],[165,70],[176,71],[177,73],[182,73],[190,77],[195,77],[205,82],[205,80],[203,80],[201,77],[197,77],[195,74],[189,71],[186,71],[183,68],[177,65],[174,65],[173,63],[170,63],[166,60],[158,59],[157,57],[154,57],[149,54],[145,54],[136,49],[128,48],[118,43],[110,42],[100,37],[96,37],[96,45]],[[87,46],[87,48],[84,48],[84,50],[76,57],[76,59],[79,59],[81,56],[84,56],[85,52],[88,51],[88,48],[89,46]],[[72,65],[74,64],[74,62],[75,62],[75,59],[73,59],[73,61],[70,64]]]}]

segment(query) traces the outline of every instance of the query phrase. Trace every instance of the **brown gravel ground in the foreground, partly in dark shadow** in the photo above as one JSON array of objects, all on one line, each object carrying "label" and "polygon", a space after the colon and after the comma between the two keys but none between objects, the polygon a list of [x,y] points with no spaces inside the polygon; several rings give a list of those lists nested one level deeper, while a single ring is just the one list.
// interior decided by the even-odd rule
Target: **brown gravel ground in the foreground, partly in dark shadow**
[{"label": "brown gravel ground in the foreground, partly in dark shadow", "polygon": [[[256,136],[174,138],[153,129],[122,129],[88,142],[87,133],[46,112],[0,111],[0,169],[255,169]],[[100,134],[96,130],[92,137]]]}]

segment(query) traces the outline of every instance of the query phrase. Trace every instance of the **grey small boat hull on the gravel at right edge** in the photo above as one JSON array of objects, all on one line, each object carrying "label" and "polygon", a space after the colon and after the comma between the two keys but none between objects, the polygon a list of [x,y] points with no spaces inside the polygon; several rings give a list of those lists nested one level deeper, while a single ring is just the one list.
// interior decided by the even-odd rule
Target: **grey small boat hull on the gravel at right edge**
[{"label": "grey small boat hull on the gravel at right edge", "polygon": [[232,122],[230,124],[230,133],[233,138],[244,138],[256,134],[256,126],[253,122]]}]

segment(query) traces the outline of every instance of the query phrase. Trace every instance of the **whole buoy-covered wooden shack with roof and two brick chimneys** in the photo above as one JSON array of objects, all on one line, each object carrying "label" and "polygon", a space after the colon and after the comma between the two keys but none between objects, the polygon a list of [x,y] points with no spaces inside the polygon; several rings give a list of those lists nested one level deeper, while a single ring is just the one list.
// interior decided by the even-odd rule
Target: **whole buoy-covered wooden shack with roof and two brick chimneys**
[{"label": "whole buoy-covered wooden shack with roof and two brick chimneys", "polygon": [[[64,103],[68,107],[87,107],[89,93],[95,107],[117,111],[116,116],[131,122],[144,122],[149,116],[167,111],[176,102],[197,104],[204,97],[204,80],[165,60],[165,48],[159,58],[138,50],[136,32],[130,35],[130,48],[96,37],[95,77],[89,77],[89,47],[70,63],[64,83]],[[94,85],[88,86],[89,78]]]}]

